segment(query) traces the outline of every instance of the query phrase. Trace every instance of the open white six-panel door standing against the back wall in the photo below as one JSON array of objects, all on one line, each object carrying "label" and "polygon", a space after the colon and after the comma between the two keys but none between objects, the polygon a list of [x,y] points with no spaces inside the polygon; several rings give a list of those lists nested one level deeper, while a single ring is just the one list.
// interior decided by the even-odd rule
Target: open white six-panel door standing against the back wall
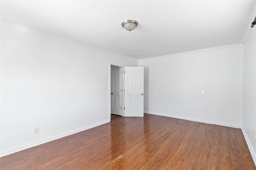
[{"label": "open white six-panel door standing against the back wall", "polygon": [[144,67],[124,68],[124,116],[144,116]]}]

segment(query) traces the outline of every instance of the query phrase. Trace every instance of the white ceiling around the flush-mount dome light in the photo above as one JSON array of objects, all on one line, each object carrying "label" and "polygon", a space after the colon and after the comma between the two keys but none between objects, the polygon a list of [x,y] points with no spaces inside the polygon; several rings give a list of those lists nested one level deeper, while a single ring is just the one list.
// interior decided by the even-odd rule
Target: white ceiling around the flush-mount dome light
[{"label": "white ceiling around the flush-mount dome light", "polygon": [[[144,59],[242,42],[255,0],[1,1],[1,20]],[[138,21],[126,31],[124,20]]]}]

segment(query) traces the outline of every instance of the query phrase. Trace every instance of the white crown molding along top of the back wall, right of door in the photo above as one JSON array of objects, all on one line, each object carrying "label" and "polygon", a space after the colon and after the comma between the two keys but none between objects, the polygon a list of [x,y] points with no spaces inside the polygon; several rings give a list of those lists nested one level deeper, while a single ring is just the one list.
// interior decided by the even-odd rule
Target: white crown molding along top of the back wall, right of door
[{"label": "white crown molding along top of the back wall, right of door", "polygon": [[230,48],[230,47],[241,47],[241,48],[243,48],[244,45],[242,45],[242,44],[223,45],[223,46],[219,46],[219,47],[212,47],[212,48],[207,48],[207,49],[187,51],[187,52],[183,52],[183,53],[175,53],[175,54],[169,54],[169,55],[162,55],[162,56],[158,56],[158,57],[150,57],[150,58],[146,58],[146,59],[140,59],[138,62],[147,61],[147,60],[154,60],[154,59],[161,59],[161,58],[172,57],[172,56],[177,56],[177,55],[193,54],[193,53],[199,53],[199,52],[203,52],[203,51],[211,51],[211,50],[216,50],[216,49]]}]

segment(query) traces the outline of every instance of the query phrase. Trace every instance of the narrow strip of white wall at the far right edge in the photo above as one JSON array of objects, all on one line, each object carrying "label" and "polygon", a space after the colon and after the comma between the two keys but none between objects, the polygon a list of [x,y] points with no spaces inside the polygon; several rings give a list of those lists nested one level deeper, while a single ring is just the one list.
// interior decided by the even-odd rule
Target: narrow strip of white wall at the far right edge
[{"label": "narrow strip of white wall at the far right edge", "polygon": [[256,28],[244,43],[243,130],[256,163]]}]

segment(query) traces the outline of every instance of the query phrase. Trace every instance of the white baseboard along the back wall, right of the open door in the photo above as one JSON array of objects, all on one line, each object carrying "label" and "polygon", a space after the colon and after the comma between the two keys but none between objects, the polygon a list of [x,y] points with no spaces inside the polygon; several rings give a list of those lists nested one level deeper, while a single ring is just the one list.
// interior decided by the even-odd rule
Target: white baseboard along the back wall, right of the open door
[{"label": "white baseboard along the back wall, right of the open door", "polygon": [[165,116],[165,117],[172,117],[172,118],[176,118],[176,119],[198,121],[198,122],[201,122],[201,123],[208,123],[208,124],[213,124],[213,125],[220,125],[220,126],[234,127],[234,128],[242,129],[241,126],[229,125],[229,124],[224,124],[224,123],[219,123],[219,122],[214,122],[214,121],[204,121],[204,120],[200,120],[200,119],[192,119],[192,118],[188,118],[188,117],[181,117],[181,116],[174,116],[174,115],[165,115],[165,114],[153,113],[153,112],[149,112],[149,111],[144,111],[144,113],[148,113],[148,114],[151,114],[151,115],[159,115],[159,116]]}]

